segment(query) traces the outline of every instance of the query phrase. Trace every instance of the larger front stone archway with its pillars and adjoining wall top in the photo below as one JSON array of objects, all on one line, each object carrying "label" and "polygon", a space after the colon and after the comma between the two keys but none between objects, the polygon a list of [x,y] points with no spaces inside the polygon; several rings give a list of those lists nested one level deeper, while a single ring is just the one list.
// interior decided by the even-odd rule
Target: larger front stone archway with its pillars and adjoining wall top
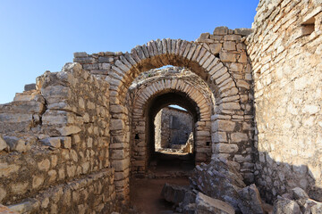
[{"label": "larger front stone archway with its pillars and adjoining wall top", "polygon": [[[225,39],[240,37],[228,36]],[[137,45],[131,53],[75,55],[75,62],[81,62],[85,70],[106,78],[110,83],[110,161],[115,169],[115,190],[121,200],[129,191],[131,124],[126,93],[133,79],[141,72],[164,65],[188,68],[208,84],[216,100],[214,115],[211,116],[212,152],[233,161],[252,179],[251,165],[248,164],[252,159],[250,84],[243,80],[246,78],[244,74],[237,73],[248,66],[247,56],[243,48],[231,51],[223,46],[223,54],[219,55],[223,60],[221,62],[216,53],[210,51],[208,44],[220,43],[219,39],[200,37],[197,42],[157,39],[146,45]]]}]

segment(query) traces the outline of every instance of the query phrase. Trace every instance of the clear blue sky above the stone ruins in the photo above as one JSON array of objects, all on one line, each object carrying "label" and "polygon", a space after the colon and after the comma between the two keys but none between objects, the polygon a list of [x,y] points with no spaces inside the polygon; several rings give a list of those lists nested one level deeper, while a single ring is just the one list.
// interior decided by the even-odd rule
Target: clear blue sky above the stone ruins
[{"label": "clear blue sky above the stone ruins", "polygon": [[258,0],[0,0],[0,103],[72,53],[130,51],[157,38],[195,40],[216,26],[250,28]]}]

